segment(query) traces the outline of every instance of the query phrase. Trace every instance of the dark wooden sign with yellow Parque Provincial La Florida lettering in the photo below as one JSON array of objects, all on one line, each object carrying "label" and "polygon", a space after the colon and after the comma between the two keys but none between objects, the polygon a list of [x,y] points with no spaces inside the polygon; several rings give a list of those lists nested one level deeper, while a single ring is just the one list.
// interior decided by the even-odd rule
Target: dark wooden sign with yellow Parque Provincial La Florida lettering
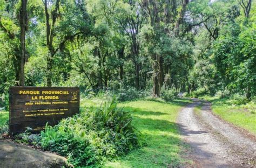
[{"label": "dark wooden sign with yellow Parque Provincial La Florida lettering", "polygon": [[62,118],[79,113],[77,87],[10,87],[9,129],[11,134],[24,132],[28,127],[38,133]]}]

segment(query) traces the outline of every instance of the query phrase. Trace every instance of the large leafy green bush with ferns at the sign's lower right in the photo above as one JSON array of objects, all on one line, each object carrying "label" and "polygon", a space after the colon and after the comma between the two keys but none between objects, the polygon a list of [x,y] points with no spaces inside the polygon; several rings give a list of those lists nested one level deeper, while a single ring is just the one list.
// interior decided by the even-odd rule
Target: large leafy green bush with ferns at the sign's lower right
[{"label": "large leafy green bush with ferns at the sign's lower right", "polygon": [[100,164],[140,145],[129,113],[117,108],[116,100],[98,109],[65,118],[41,132],[44,150],[68,157],[74,166]]}]

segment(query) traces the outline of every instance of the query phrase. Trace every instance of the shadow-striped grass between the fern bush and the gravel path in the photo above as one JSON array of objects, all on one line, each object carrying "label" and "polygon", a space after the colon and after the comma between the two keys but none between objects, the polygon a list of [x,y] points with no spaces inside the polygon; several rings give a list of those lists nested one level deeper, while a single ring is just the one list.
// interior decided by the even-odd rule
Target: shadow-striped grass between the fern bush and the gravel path
[{"label": "shadow-striped grass between the fern bush and the gravel path", "polygon": [[145,145],[105,167],[178,167],[184,160],[179,153],[183,143],[175,123],[185,100],[169,103],[140,100],[121,103],[124,110],[131,111],[133,124],[142,133]]}]

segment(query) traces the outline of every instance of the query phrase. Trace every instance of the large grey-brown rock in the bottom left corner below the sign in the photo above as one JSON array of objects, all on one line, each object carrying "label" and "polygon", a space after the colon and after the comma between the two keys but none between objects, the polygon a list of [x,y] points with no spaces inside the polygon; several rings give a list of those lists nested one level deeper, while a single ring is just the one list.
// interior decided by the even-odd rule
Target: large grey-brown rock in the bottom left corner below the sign
[{"label": "large grey-brown rock in the bottom left corner below the sign", "polygon": [[0,167],[63,167],[66,158],[0,140]]}]

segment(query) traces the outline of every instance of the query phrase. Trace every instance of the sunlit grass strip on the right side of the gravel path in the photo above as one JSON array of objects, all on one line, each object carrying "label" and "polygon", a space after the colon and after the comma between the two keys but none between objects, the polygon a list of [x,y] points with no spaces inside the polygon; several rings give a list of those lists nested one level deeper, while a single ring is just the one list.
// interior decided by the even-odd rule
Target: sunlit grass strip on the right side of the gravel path
[{"label": "sunlit grass strip on the right side of the gravel path", "polygon": [[204,99],[212,103],[213,113],[256,135],[256,104],[253,101],[238,103],[229,98],[204,97]]}]

